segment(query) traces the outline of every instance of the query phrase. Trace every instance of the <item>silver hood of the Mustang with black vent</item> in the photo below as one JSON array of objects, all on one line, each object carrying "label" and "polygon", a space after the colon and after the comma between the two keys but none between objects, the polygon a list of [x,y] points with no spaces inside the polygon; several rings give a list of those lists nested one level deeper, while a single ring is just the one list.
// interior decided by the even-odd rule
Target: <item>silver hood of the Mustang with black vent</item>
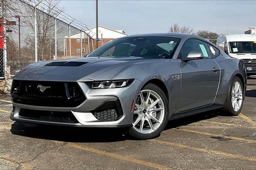
[{"label": "silver hood of the Mustang with black vent", "polygon": [[[73,77],[72,81],[79,80],[82,77],[93,79],[96,75],[127,64],[130,61],[143,60],[141,57],[84,57],[67,60],[41,61],[33,63],[19,71],[14,79],[21,77],[49,77],[49,76],[63,76]],[[71,64],[70,64],[71,63]],[[74,65],[72,65],[74,63]],[[71,66],[70,66],[71,65]],[[23,75],[23,76],[22,76]],[[111,75],[109,75],[111,77]],[[32,78],[34,77],[34,78]],[[30,79],[26,78],[26,79]],[[57,78],[57,77],[56,77]],[[106,77],[108,78],[108,77]]]}]

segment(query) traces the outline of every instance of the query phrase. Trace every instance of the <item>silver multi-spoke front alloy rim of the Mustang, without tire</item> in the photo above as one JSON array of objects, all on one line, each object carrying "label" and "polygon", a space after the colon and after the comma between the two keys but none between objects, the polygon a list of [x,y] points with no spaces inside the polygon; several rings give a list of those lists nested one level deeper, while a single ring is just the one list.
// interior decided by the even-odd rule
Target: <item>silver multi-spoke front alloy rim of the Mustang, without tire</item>
[{"label": "silver multi-spoke front alloy rim of the Mustang, without tire", "polygon": [[133,128],[143,134],[157,130],[164,120],[164,102],[152,90],[142,90],[134,107]]}]

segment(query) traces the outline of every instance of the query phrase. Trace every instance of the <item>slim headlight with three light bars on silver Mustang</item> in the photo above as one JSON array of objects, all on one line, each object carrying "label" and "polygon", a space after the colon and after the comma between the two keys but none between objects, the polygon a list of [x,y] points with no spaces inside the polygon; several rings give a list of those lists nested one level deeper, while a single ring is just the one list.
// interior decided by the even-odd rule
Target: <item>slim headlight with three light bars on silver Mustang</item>
[{"label": "slim headlight with three light bars on silver Mustang", "polygon": [[90,89],[113,89],[120,87],[127,87],[132,84],[134,79],[127,80],[104,80],[104,81],[90,81],[85,82]]}]

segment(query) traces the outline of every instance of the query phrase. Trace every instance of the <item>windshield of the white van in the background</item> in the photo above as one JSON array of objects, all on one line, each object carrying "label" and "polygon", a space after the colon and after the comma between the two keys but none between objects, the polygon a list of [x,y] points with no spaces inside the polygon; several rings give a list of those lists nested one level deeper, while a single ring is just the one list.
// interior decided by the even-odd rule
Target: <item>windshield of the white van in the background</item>
[{"label": "windshield of the white van in the background", "polygon": [[230,42],[231,53],[256,53],[256,43],[254,42]]}]

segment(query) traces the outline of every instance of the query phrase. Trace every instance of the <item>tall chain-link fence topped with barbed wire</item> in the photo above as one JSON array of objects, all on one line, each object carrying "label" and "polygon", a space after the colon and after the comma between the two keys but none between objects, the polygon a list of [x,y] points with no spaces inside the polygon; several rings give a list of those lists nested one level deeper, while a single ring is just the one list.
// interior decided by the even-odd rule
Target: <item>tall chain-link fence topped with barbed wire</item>
[{"label": "tall chain-link fence topped with barbed wire", "polygon": [[86,25],[57,5],[54,0],[0,0],[0,79],[33,62],[83,57],[93,51],[95,40]]}]

